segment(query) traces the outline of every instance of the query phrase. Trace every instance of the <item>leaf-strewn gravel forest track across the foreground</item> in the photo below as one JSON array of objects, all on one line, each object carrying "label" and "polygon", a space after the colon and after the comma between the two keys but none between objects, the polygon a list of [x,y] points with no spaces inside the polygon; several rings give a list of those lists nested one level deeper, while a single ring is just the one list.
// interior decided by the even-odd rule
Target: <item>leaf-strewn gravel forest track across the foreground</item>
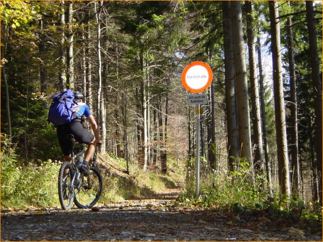
[{"label": "leaf-strewn gravel forest track across the foreground", "polygon": [[322,241],[297,222],[178,207],[179,187],[88,210],[1,211],[1,241]]}]

